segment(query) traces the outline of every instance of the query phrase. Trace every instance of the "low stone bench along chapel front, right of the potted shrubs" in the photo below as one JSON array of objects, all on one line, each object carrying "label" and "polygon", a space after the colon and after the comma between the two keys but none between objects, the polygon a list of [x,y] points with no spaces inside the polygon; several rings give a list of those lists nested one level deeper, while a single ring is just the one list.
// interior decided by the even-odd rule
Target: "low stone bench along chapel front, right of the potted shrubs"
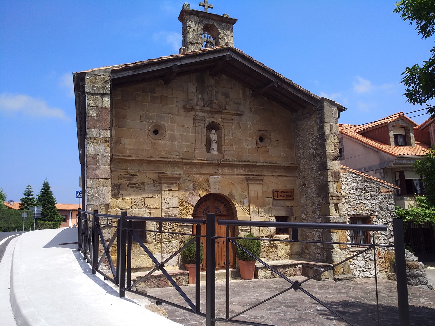
[{"label": "low stone bench along chapel front, right of the potted shrubs", "polygon": [[[301,259],[301,260],[284,259],[284,260],[277,260],[277,261],[270,261],[270,262],[266,261],[266,263],[287,277],[292,277],[292,276],[311,277],[320,273],[322,270],[332,266],[331,264],[328,263],[318,263],[305,259]],[[333,274],[334,273],[331,269],[328,270],[327,272],[321,273],[320,275],[314,277],[313,279],[318,281],[323,281],[325,279],[329,279],[333,277]],[[254,277],[256,279],[271,279],[279,276],[276,273],[274,273],[271,269],[264,266],[263,264],[256,263]]]}]

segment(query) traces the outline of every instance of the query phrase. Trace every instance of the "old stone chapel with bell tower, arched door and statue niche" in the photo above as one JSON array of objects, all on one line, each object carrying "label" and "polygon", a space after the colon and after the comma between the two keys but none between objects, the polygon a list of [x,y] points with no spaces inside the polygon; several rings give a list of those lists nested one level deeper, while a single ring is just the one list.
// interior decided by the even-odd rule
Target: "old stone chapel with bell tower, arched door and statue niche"
[{"label": "old stone chapel with bell tower, arched door and statue niche", "polygon": [[[83,207],[181,217],[184,224],[167,230],[185,232],[192,232],[192,216],[207,213],[346,223],[338,149],[338,116],[345,108],[235,48],[237,20],[227,14],[185,3],[178,20],[178,54],[74,73]],[[232,230],[234,236],[248,231]],[[291,238],[291,230],[281,228],[252,232]],[[184,240],[143,236],[162,257]],[[300,230],[299,237],[338,241],[339,232]],[[216,266],[224,267],[223,245],[217,253]],[[343,254],[338,246],[273,243],[261,256],[334,263]],[[151,266],[151,259],[134,257],[134,268]]]}]

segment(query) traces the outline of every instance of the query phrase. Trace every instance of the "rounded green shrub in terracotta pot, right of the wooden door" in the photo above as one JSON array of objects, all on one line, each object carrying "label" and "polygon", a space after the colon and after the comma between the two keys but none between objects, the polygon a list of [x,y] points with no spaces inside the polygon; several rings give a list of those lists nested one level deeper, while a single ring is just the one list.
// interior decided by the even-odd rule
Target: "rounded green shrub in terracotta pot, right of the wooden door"
[{"label": "rounded green shrub in terracotta pot, right of the wooden door", "polygon": [[[245,235],[243,238],[236,240],[236,243],[252,253],[254,256],[260,256],[261,243],[260,240],[252,240],[247,238],[254,238],[252,232]],[[245,253],[239,247],[236,247],[236,255],[238,258],[240,277],[242,279],[253,279],[255,272],[255,259],[250,254]]]}]

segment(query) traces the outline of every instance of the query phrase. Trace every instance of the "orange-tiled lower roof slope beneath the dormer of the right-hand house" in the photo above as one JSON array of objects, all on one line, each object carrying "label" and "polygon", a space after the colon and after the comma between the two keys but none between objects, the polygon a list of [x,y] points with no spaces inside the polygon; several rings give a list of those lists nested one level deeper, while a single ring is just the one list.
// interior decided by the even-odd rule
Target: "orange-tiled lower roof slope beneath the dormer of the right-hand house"
[{"label": "orange-tiled lower roof slope beneath the dormer of the right-hand house", "polygon": [[359,130],[361,130],[361,126],[343,124],[343,123],[338,124],[339,133],[348,136],[352,139],[355,139],[362,144],[370,146],[375,150],[380,150],[381,152],[390,154],[395,157],[399,155],[423,156],[430,149],[429,145],[426,145],[425,143],[421,143],[417,140],[415,140],[415,146],[391,146],[389,144],[381,143],[377,140],[361,135],[359,133]]}]

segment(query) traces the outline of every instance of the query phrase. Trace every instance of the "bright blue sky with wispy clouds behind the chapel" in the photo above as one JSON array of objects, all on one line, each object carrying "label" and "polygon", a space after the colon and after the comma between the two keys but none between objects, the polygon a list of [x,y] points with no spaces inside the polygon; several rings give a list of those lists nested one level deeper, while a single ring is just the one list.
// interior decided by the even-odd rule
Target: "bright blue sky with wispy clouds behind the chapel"
[{"label": "bright blue sky with wispy clouds behind the chapel", "polygon": [[[0,188],[7,200],[19,201],[27,184],[39,193],[47,178],[58,203],[78,202],[72,73],[178,53],[184,2],[0,2]],[[210,3],[210,12],[238,19],[235,47],[348,107],[340,123],[422,108],[406,102],[401,74],[426,60],[433,43],[392,12],[394,0]]]}]

